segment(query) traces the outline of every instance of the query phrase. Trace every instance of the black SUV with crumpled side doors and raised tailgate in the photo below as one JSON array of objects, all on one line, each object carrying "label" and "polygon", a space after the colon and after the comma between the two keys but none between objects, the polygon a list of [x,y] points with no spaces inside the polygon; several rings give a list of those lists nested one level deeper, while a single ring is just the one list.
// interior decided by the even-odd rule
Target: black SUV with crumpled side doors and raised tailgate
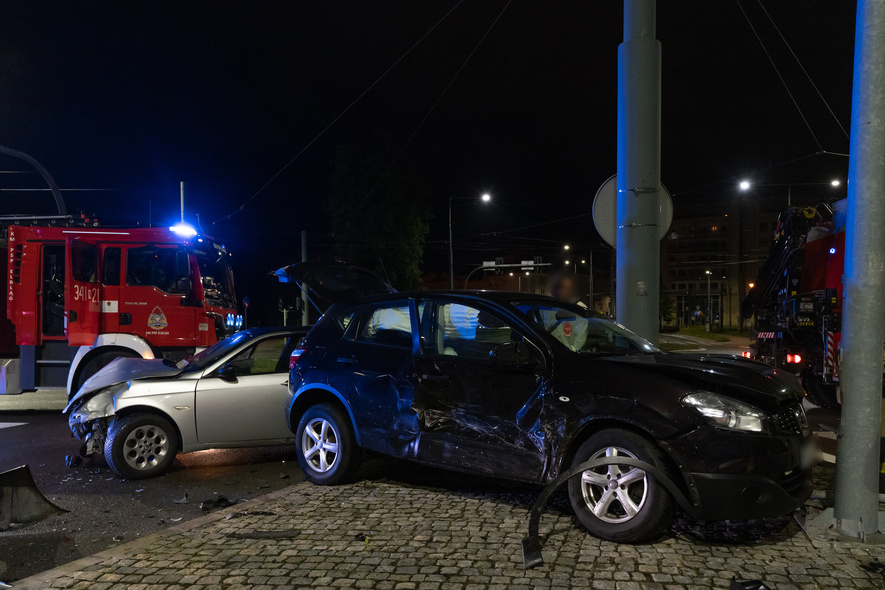
[{"label": "black SUV with crumpled side doors and raised tailgate", "polygon": [[[666,353],[543,296],[397,293],[346,266],[277,274],[331,304],[290,360],[286,417],[314,483],[347,480],[366,449],[532,483],[629,457],[666,473],[706,520],[785,514],[811,492],[804,392],[768,365]],[[676,507],[629,465],[584,471],[568,490],[611,541],[656,538]]]}]

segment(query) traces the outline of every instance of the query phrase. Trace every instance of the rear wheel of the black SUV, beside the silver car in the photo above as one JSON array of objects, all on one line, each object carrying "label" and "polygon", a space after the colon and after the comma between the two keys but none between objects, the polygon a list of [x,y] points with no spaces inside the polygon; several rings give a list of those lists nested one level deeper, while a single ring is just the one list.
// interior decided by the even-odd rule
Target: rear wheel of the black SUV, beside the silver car
[{"label": "rear wheel of the black SUV, beside the silver car", "polygon": [[301,469],[315,484],[344,483],[359,469],[362,455],[350,419],[331,404],[317,404],[304,413],[295,445]]}]

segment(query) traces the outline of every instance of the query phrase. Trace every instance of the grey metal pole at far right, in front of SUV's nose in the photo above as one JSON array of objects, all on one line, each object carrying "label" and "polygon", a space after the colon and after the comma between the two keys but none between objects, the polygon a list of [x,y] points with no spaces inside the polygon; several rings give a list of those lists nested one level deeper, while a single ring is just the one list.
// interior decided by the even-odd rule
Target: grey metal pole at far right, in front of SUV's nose
[{"label": "grey metal pole at far right, in front of SUV's nose", "polygon": [[885,337],[885,0],[858,0],[842,279],[842,422],[836,528],[878,529],[882,341]]}]

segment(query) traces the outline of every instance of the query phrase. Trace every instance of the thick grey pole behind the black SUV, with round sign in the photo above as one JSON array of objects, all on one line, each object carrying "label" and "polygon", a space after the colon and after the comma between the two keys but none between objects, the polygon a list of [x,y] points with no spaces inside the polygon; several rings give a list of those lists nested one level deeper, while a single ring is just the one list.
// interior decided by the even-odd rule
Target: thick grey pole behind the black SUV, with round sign
[{"label": "thick grey pole behind the black SUV, with round sign", "polygon": [[617,318],[658,341],[661,44],[655,0],[624,0],[618,47]]}]

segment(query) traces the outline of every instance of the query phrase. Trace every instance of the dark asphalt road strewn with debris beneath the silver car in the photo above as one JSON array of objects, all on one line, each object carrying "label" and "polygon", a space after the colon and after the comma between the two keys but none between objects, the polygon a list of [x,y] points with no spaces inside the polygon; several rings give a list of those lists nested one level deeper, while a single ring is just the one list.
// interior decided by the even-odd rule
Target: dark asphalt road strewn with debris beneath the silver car
[{"label": "dark asphalt road strewn with debris beneath the silver car", "polygon": [[[40,491],[70,511],[0,532],[0,581],[204,515],[203,500],[252,499],[304,479],[289,446],[179,455],[166,475],[140,481],[120,479],[100,456],[66,467],[65,455],[77,454],[79,447],[60,412],[0,412],[0,472],[29,465]],[[187,504],[173,501],[185,493]]]}]

